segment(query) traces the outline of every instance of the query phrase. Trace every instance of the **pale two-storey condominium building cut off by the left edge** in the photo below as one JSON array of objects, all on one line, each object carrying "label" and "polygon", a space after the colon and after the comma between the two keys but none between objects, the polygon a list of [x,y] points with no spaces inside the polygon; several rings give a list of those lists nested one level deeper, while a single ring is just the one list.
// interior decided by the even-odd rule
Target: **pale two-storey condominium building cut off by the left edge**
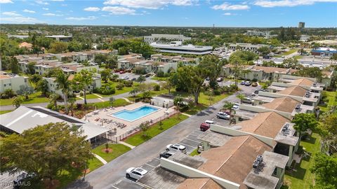
[{"label": "pale two-storey condominium building cut off by the left edge", "polygon": [[20,90],[21,85],[29,85],[28,77],[0,71],[0,93],[7,89],[17,92]]}]

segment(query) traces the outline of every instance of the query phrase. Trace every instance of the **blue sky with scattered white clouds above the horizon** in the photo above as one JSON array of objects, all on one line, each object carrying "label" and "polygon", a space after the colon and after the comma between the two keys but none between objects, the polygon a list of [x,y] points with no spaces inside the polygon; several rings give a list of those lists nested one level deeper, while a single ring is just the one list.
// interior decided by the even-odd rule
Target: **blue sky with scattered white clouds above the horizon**
[{"label": "blue sky with scattered white clouds above the horizon", "polygon": [[337,0],[0,0],[0,22],[54,25],[337,27]]}]

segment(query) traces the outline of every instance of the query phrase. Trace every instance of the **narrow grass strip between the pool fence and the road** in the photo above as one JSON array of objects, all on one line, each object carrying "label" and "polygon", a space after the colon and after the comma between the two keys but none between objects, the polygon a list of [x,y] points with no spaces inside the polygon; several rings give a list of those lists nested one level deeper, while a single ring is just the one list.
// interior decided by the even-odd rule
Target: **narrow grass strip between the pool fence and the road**
[{"label": "narrow grass strip between the pool fence and the road", "polygon": [[173,127],[174,125],[177,125],[178,123],[180,123],[181,121],[187,118],[188,118],[187,116],[182,115],[182,114],[180,114],[179,118],[178,116],[172,116],[171,118],[161,121],[161,123],[163,123],[162,130],[159,130],[159,125],[157,123],[157,124],[154,124],[152,127],[150,127],[149,130],[147,130],[147,137],[143,137],[143,132],[140,132],[131,137],[128,137],[125,140],[125,142],[128,144],[131,144],[132,146],[138,146],[142,144],[143,142],[152,139],[152,137],[155,137],[157,134],[160,134],[161,132],[164,132],[165,130],[169,130],[169,128]]}]

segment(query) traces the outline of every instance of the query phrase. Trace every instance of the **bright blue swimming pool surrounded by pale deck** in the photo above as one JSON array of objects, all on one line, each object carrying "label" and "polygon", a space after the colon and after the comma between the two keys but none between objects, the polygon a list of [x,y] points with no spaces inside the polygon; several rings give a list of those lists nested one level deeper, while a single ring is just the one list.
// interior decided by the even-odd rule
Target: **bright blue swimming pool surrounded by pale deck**
[{"label": "bright blue swimming pool surrounded by pale deck", "polygon": [[154,111],[158,111],[159,109],[153,108],[151,106],[141,106],[138,109],[133,109],[132,111],[122,110],[116,113],[112,113],[111,116],[116,118],[127,120],[133,122],[134,120],[138,120],[139,118],[143,118],[144,116],[153,113]]}]

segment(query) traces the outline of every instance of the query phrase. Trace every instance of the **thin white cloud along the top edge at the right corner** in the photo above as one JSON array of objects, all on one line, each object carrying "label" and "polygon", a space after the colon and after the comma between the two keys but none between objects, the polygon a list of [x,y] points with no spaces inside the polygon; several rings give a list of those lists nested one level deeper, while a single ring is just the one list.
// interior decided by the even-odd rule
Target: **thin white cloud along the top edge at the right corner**
[{"label": "thin white cloud along the top edge at the right corner", "polygon": [[258,0],[254,3],[256,6],[262,7],[277,7],[277,6],[305,6],[313,5],[315,3],[327,3],[327,2],[337,2],[337,0]]}]

